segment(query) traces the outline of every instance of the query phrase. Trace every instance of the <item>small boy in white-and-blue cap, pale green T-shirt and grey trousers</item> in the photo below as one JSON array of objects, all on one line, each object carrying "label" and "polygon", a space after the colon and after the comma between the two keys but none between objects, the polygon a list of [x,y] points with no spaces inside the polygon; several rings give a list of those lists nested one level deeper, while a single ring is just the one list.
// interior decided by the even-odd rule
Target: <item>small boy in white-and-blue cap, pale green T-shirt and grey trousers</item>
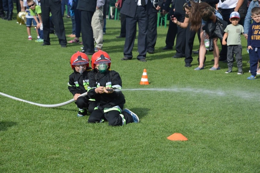
[{"label": "small boy in white-and-blue cap, pale green T-shirt and grey trousers", "polygon": [[[236,11],[232,12],[229,17],[229,24],[225,29],[222,45],[228,46],[227,61],[228,70],[225,73],[231,73],[233,67],[233,54],[235,54],[238,72],[237,74],[243,74],[242,67],[242,45],[240,35],[244,33],[244,27],[238,22],[240,21],[240,14]],[[227,38],[227,41],[226,41]]]}]

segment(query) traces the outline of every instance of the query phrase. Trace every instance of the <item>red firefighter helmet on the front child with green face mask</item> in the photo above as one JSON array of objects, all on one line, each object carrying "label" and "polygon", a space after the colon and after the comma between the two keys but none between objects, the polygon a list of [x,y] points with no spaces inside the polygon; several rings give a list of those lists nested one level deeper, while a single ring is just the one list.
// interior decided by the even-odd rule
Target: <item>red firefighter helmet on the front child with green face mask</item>
[{"label": "red firefighter helmet on the front child with green face mask", "polygon": [[99,50],[98,52],[94,53],[91,58],[91,67],[95,69],[96,64],[106,64],[108,63],[108,67],[110,68],[111,59],[107,52]]}]

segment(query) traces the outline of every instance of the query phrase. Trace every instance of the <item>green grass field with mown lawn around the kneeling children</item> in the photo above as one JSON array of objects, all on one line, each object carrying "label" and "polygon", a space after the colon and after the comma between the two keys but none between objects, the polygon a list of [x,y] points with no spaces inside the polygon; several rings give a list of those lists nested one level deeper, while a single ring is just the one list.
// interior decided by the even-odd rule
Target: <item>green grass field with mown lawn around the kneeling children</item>
[{"label": "green grass field with mown lawn around the kneeling children", "polygon": [[[64,18],[66,35],[71,21]],[[44,108],[0,96],[0,172],[260,172],[259,78],[247,80],[249,56],[243,42],[244,74],[204,70],[194,55],[192,67],[163,51],[167,28],[159,27],[155,54],[139,62],[121,61],[124,39],[115,38],[120,22],[107,20],[103,50],[119,72],[126,98],[139,124],[110,127],[78,118],[74,103]],[[35,40],[36,33],[32,29]],[[72,99],[67,89],[70,57],[79,44],[61,48],[51,34],[51,46],[27,40],[25,25],[0,20],[0,92],[42,104]],[[70,38],[67,38],[69,41]],[[193,50],[199,47],[197,37]],[[89,56],[91,58],[91,56]],[[143,69],[150,85],[139,85]],[[181,133],[187,141],[170,141]]]}]

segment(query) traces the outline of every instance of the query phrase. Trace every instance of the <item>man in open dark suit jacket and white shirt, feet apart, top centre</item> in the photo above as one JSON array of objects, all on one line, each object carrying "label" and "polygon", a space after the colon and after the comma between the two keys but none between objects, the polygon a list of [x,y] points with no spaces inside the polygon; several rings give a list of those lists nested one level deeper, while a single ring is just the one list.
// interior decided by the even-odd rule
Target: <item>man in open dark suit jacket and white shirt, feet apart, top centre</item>
[{"label": "man in open dark suit jacket and white shirt, feet apart, top centre", "polygon": [[121,60],[130,60],[133,58],[132,50],[135,43],[136,24],[138,22],[139,33],[137,46],[139,55],[137,59],[146,62],[148,16],[152,13],[151,1],[125,0],[120,13],[126,15],[124,58]]}]

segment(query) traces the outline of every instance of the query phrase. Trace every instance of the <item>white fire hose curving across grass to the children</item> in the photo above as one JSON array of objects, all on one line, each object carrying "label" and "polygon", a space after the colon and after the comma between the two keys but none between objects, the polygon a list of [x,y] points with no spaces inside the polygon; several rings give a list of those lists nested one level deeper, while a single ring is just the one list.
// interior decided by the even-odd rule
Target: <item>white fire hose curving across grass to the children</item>
[{"label": "white fire hose curving across grass to the children", "polygon": [[[13,97],[13,96],[9,96],[9,95],[2,93],[2,92],[0,92],[0,95],[5,96],[5,97],[9,97],[9,98],[14,99],[14,100],[18,100],[18,101],[21,101],[21,102],[30,103],[32,105],[41,106],[41,107],[48,107],[48,108],[64,106],[64,105],[70,104],[70,103],[75,101],[74,99],[71,99],[67,102],[63,102],[63,103],[59,103],[59,104],[45,105],[45,104],[34,103],[34,102],[27,101],[27,100],[19,99],[19,98]],[[81,94],[79,97],[86,96],[86,95],[87,95],[87,92]]]}]

